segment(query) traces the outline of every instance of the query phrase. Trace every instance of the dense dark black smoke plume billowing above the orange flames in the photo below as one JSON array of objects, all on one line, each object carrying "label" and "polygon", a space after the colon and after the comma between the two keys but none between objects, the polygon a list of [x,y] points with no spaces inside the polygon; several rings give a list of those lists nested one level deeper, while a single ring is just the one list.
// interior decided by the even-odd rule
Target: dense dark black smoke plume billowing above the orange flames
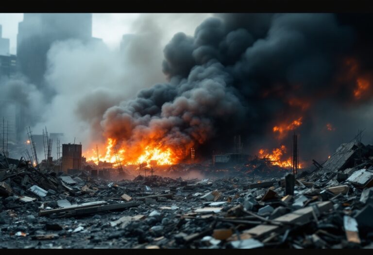
[{"label": "dense dark black smoke plume billowing above the orange flames", "polygon": [[[371,99],[354,97],[364,75],[360,56],[353,54],[357,38],[355,25],[341,24],[333,14],[208,18],[194,36],[175,34],[165,47],[169,82],[108,108],[102,135],[134,154],[152,144],[179,151],[196,146],[207,156],[229,151],[238,134],[252,153],[260,146],[288,146],[295,129],[304,158],[326,157],[372,121],[356,112]],[[350,58],[359,63],[357,71]],[[355,73],[343,75],[349,69]],[[364,92],[371,91],[364,79]],[[299,118],[302,124],[284,136],[273,132]]]}]

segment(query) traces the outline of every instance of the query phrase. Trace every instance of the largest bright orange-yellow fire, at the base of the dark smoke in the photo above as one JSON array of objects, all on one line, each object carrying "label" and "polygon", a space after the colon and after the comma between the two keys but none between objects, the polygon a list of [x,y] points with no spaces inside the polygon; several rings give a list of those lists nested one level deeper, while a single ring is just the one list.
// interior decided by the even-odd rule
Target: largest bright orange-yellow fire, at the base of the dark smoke
[{"label": "largest bright orange-yellow fire, at the base of the dark smoke", "polygon": [[[110,162],[114,166],[117,164],[116,156],[114,153],[114,146],[116,141],[114,139],[108,138],[105,146],[105,154],[100,154],[99,159],[101,162]],[[147,145],[144,147],[141,153],[136,154],[135,151],[127,151],[126,148],[120,148],[117,150],[119,161],[123,165],[139,165],[139,164],[150,164],[151,160],[155,160],[157,165],[172,165],[176,164],[178,157],[174,155],[170,148],[164,148],[161,145]],[[88,161],[93,161],[95,164],[99,164],[96,149],[91,149],[87,153]]]}]

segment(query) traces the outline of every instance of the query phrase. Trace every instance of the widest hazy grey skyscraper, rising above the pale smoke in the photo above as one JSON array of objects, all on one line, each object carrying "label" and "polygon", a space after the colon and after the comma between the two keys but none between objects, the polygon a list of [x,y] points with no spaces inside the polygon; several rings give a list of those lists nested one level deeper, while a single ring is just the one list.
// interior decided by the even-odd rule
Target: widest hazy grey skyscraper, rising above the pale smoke
[{"label": "widest hazy grey skyscraper, rising above the pale smoke", "polygon": [[91,40],[92,14],[25,13],[17,34],[20,72],[42,87],[48,50],[53,42],[67,39]]}]

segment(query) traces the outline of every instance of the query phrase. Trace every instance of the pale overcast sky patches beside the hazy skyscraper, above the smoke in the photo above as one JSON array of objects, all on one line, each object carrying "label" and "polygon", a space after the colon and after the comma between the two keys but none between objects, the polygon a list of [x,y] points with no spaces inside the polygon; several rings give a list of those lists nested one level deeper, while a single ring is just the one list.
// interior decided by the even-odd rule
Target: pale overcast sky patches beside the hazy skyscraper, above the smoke
[{"label": "pale overcast sky patches beside the hazy skyscraper, above the smoke", "polygon": [[[166,45],[172,35],[184,32],[192,35],[196,26],[211,14],[138,14],[138,13],[109,13],[93,14],[92,34],[94,37],[102,38],[112,49],[119,47],[123,34],[134,33],[134,22],[141,15],[157,17],[158,26],[164,28],[162,44]],[[18,22],[23,20],[22,13],[0,13],[0,24],[2,25],[2,37],[10,39],[10,52],[16,54]]]}]

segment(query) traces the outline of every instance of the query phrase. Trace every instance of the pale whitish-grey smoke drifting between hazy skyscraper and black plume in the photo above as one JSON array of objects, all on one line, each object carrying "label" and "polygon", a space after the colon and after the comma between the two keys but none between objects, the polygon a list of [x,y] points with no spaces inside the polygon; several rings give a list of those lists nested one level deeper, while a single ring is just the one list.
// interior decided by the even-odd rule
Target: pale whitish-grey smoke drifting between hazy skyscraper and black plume
[{"label": "pale whitish-grey smoke drifting between hazy skyscraper and black plume", "polygon": [[[100,122],[106,109],[133,98],[142,88],[167,81],[160,63],[168,34],[161,27],[170,26],[166,21],[173,16],[141,14],[132,25],[133,34],[123,35],[118,49],[99,40],[54,42],[47,54],[44,80],[55,95],[34,129],[47,126],[64,133],[65,142],[76,137],[84,149],[101,143]],[[191,17],[174,20],[186,24]]]}]

